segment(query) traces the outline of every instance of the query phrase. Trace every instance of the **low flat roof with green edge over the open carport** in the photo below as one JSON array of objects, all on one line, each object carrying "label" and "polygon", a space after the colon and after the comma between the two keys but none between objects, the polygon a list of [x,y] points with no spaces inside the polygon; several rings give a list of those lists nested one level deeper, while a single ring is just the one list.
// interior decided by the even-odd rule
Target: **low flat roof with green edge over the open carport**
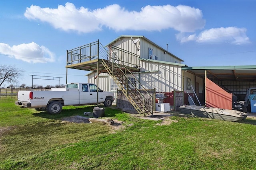
[{"label": "low flat roof with green edge over the open carport", "polygon": [[204,66],[204,67],[182,67],[182,70],[210,80],[224,81],[256,81],[256,65],[251,66]]}]

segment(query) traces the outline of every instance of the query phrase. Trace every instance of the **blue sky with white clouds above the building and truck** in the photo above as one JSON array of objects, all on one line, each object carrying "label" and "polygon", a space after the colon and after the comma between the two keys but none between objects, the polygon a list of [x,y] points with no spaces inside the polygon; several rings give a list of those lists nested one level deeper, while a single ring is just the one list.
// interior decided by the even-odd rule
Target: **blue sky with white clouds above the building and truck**
[{"label": "blue sky with white clouds above the building and truck", "polygon": [[[256,0],[1,0],[0,65],[66,84],[66,50],[144,35],[188,66],[256,65]],[[68,82],[88,72],[68,69]],[[37,80],[33,84],[56,85]],[[8,86],[5,83],[4,86]]]}]

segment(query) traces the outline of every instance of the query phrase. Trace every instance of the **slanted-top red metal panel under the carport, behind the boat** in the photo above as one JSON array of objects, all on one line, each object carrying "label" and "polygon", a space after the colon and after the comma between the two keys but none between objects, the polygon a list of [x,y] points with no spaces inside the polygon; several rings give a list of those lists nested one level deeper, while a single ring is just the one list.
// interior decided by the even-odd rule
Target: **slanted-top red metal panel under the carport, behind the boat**
[{"label": "slanted-top red metal panel under the carport, behind the boat", "polygon": [[232,110],[232,94],[226,92],[208,78],[205,82],[205,95],[206,107]]}]

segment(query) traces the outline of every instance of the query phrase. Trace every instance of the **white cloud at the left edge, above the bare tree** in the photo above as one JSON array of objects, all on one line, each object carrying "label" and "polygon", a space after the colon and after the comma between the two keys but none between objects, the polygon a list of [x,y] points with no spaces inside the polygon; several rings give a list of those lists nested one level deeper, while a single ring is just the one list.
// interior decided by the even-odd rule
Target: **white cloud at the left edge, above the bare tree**
[{"label": "white cloud at the left edge, above the bare tree", "polygon": [[54,62],[54,54],[44,46],[32,42],[28,44],[10,45],[0,43],[0,53],[15,57],[15,59],[28,63],[48,63]]}]

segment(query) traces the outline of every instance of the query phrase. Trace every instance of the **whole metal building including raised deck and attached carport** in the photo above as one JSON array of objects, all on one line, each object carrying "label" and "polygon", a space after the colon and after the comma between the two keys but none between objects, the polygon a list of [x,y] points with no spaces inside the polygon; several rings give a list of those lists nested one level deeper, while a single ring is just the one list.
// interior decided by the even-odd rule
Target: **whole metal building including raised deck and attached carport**
[{"label": "whole metal building including raised deck and attached carport", "polygon": [[[182,91],[186,95],[184,101],[188,101],[190,93],[195,102],[199,98],[206,106],[231,109],[233,94],[242,100],[246,89],[256,86],[256,66],[188,67],[144,36],[121,35],[105,48],[101,46],[98,41],[67,51],[66,68],[91,71],[86,75],[89,83],[98,84],[104,91],[122,89],[123,94],[131,95],[130,102],[143,97],[132,96],[133,90],[155,89],[168,94]],[[142,100],[134,101],[133,106]],[[153,102],[152,98],[149,100]]]}]

